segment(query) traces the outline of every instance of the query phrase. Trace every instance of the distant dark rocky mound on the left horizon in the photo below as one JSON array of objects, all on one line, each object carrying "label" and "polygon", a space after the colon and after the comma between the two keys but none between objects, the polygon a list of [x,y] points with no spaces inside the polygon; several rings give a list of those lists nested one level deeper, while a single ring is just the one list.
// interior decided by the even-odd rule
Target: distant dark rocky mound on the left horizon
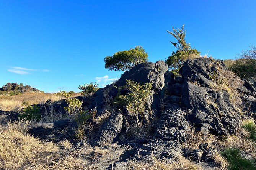
[{"label": "distant dark rocky mound on the left horizon", "polygon": [[19,85],[17,83],[7,83],[4,85],[2,88],[0,88],[0,91],[14,91],[17,90],[21,93],[26,93],[26,92],[40,92],[40,90],[33,88],[29,85]]}]

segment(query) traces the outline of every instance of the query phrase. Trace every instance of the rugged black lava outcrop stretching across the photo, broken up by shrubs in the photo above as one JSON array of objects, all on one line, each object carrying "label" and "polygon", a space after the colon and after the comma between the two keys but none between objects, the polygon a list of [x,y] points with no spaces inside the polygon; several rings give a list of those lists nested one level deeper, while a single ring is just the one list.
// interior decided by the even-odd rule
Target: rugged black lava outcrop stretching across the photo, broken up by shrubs
[{"label": "rugged black lava outcrop stretching across the photo, broken up by shrubs", "polygon": [[[181,77],[175,77],[172,72],[168,71],[164,61],[146,62],[124,72],[117,82],[100,88],[91,98],[77,97],[83,101],[83,107],[97,110],[96,115],[92,115],[88,120],[90,125],[95,125],[93,138],[84,142],[105,146],[117,141],[127,146],[130,150],[127,149],[122,160],[115,164],[120,167],[124,166],[123,161],[150,160],[152,154],[158,159],[169,159],[168,161],[175,160],[178,155],[190,157],[194,161],[210,160],[207,155],[213,153],[214,150],[208,147],[204,140],[199,145],[199,149],[184,147],[184,143],[191,136],[192,129],[201,132],[203,138],[209,134],[220,137],[236,133],[241,119],[237,106],[230,101],[230,94],[227,91],[212,88],[213,82],[210,75],[217,72],[219,67],[228,71],[223,61],[220,60],[189,59],[180,69]],[[115,107],[111,108],[111,114],[101,125],[93,120],[104,114],[106,106],[109,107],[108,101],[112,101],[118,93],[123,95],[128,93],[127,90],[118,91],[118,87],[126,85],[126,80],[133,80],[141,85],[150,82],[153,85],[147,100],[147,109],[151,109],[153,114],[150,115],[151,128],[147,131],[149,134],[146,140],[128,137],[124,140],[126,123],[129,123],[125,109],[121,112]],[[256,89],[254,85],[245,81],[237,90],[240,93],[241,104],[245,107],[250,106],[251,111],[255,113]],[[48,100],[44,106],[44,111],[65,114],[64,107],[67,106],[67,102]],[[1,114],[7,115],[6,112],[0,111]],[[16,113],[11,115],[13,118],[7,115],[6,120],[16,119]],[[70,131],[72,127],[75,127],[74,122],[62,120],[31,125],[29,133],[42,140],[54,140],[55,142],[64,138],[72,140],[73,134]]]}]

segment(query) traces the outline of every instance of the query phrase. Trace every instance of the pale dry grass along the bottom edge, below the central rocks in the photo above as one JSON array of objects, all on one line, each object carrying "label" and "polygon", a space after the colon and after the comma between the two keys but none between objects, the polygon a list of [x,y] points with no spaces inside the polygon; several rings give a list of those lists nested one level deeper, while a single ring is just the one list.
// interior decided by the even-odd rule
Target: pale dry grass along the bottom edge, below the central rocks
[{"label": "pale dry grass along the bottom edge, below the central rocks", "polygon": [[152,155],[150,162],[135,162],[129,164],[129,170],[202,170],[199,165],[194,164],[183,156],[178,157],[178,161],[170,163],[158,160]]}]

